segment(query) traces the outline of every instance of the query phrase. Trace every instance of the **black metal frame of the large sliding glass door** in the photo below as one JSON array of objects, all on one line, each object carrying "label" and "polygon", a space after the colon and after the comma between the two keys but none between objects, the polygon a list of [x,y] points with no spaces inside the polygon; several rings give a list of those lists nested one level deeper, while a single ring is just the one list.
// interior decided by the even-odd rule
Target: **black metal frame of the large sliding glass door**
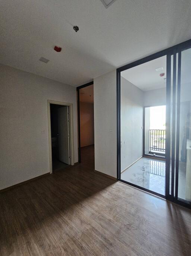
[{"label": "black metal frame of the large sliding glass door", "polygon": [[[138,189],[144,190],[146,192],[152,193],[154,195],[169,199],[170,201],[174,201],[178,204],[184,205],[186,207],[191,207],[191,204],[188,202],[185,202],[184,200],[178,199],[178,166],[176,165],[176,183],[175,183],[175,197],[171,190],[171,195],[169,195],[169,186],[170,186],[170,101],[171,101],[171,55],[173,55],[174,60],[176,60],[176,53],[180,53],[183,49],[190,48],[191,47],[191,39],[187,40],[185,42],[179,43],[178,45],[172,46],[170,48],[167,48],[163,51],[156,52],[155,54],[149,55],[145,58],[142,58],[140,60],[134,61],[130,64],[126,64],[125,66],[119,67],[116,70],[116,83],[117,83],[117,179],[119,181],[122,181],[123,183],[129,184],[133,187],[137,187]],[[167,79],[166,79],[166,183],[165,183],[165,196],[160,195],[159,193],[153,192],[148,189],[144,189],[143,187],[137,186],[135,184],[129,183],[127,181],[121,180],[120,178],[120,72],[130,69],[132,67],[138,66],[140,64],[146,63],[148,61],[154,60],[156,58],[162,57],[166,55],[166,69],[167,69]],[[179,55],[180,56],[180,55]],[[174,63],[174,61],[173,61]],[[175,65],[173,67],[173,75],[176,75]],[[180,75],[181,75],[181,59],[179,58],[178,61],[178,97],[180,93]],[[176,76],[173,76],[173,88],[176,86]],[[174,93],[174,90],[173,90]],[[173,104],[175,101],[173,101]],[[173,108],[174,111],[174,108]],[[179,106],[177,108],[177,111],[179,111]],[[177,120],[179,118],[179,112],[177,116]],[[175,129],[175,118],[173,118],[173,127]],[[177,127],[178,130],[176,132],[176,138],[178,139],[179,143],[179,127]],[[173,131],[174,132],[174,131]],[[173,133],[173,142],[175,142],[175,133]],[[176,151],[176,162],[178,151]],[[175,156],[172,156],[172,162]],[[173,166],[172,166],[173,167]],[[175,166],[174,166],[175,168]],[[174,177],[174,168],[172,168],[172,179]],[[173,184],[173,182],[172,182]]]}]

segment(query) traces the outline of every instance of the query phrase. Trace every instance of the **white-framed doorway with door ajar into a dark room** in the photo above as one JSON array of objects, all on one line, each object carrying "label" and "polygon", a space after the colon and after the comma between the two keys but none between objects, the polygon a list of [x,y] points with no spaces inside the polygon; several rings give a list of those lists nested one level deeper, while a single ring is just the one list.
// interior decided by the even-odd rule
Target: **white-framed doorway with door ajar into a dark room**
[{"label": "white-framed doorway with door ajar into a dark room", "polygon": [[48,100],[50,173],[74,164],[73,105]]}]

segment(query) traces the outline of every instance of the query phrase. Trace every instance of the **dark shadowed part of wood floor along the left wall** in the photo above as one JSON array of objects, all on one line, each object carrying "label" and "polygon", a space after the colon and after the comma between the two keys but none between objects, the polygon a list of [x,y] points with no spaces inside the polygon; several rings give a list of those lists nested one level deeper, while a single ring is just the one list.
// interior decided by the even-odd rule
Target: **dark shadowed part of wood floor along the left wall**
[{"label": "dark shadowed part of wood floor along the left wall", "polygon": [[[1,234],[3,231],[0,255],[13,252],[15,243],[22,249],[26,243],[31,243],[31,239],[38,239],[36,234],[41,234],[41,229],[50,235],[57,225],[67,229],[74,215],[83,219],[80,207],[85,199],[95,198],[116,182],[94,172],[94,156],[90,157],[93,147],[82,150],[82,156],[83,151],[85,158],[88,153],[87,161],[82,160],[81,164],[68,166],[0,194]],[[62,224],[59,224],[60,217]]]}]

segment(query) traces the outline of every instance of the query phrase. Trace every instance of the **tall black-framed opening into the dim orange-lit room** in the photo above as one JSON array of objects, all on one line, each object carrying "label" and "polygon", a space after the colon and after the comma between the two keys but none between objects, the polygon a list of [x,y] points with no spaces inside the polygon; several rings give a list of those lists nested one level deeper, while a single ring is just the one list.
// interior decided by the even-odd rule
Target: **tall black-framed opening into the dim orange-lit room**
[{"label": "tall black-framed opening into the dim orange-lit room", "polygon": [[94,85],[82,85],[77,91],[79,162],[94,169]]}]

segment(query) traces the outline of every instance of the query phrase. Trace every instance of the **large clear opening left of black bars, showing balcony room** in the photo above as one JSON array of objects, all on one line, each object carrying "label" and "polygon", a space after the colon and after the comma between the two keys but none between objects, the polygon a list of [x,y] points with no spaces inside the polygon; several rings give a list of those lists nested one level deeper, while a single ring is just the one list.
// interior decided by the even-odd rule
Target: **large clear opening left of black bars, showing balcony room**
[{"label": "large clear opening left of black bars, showing balcony room", "polygon": [[166,56],[121,72],[120,84],[121,180],[165,195]]}]

